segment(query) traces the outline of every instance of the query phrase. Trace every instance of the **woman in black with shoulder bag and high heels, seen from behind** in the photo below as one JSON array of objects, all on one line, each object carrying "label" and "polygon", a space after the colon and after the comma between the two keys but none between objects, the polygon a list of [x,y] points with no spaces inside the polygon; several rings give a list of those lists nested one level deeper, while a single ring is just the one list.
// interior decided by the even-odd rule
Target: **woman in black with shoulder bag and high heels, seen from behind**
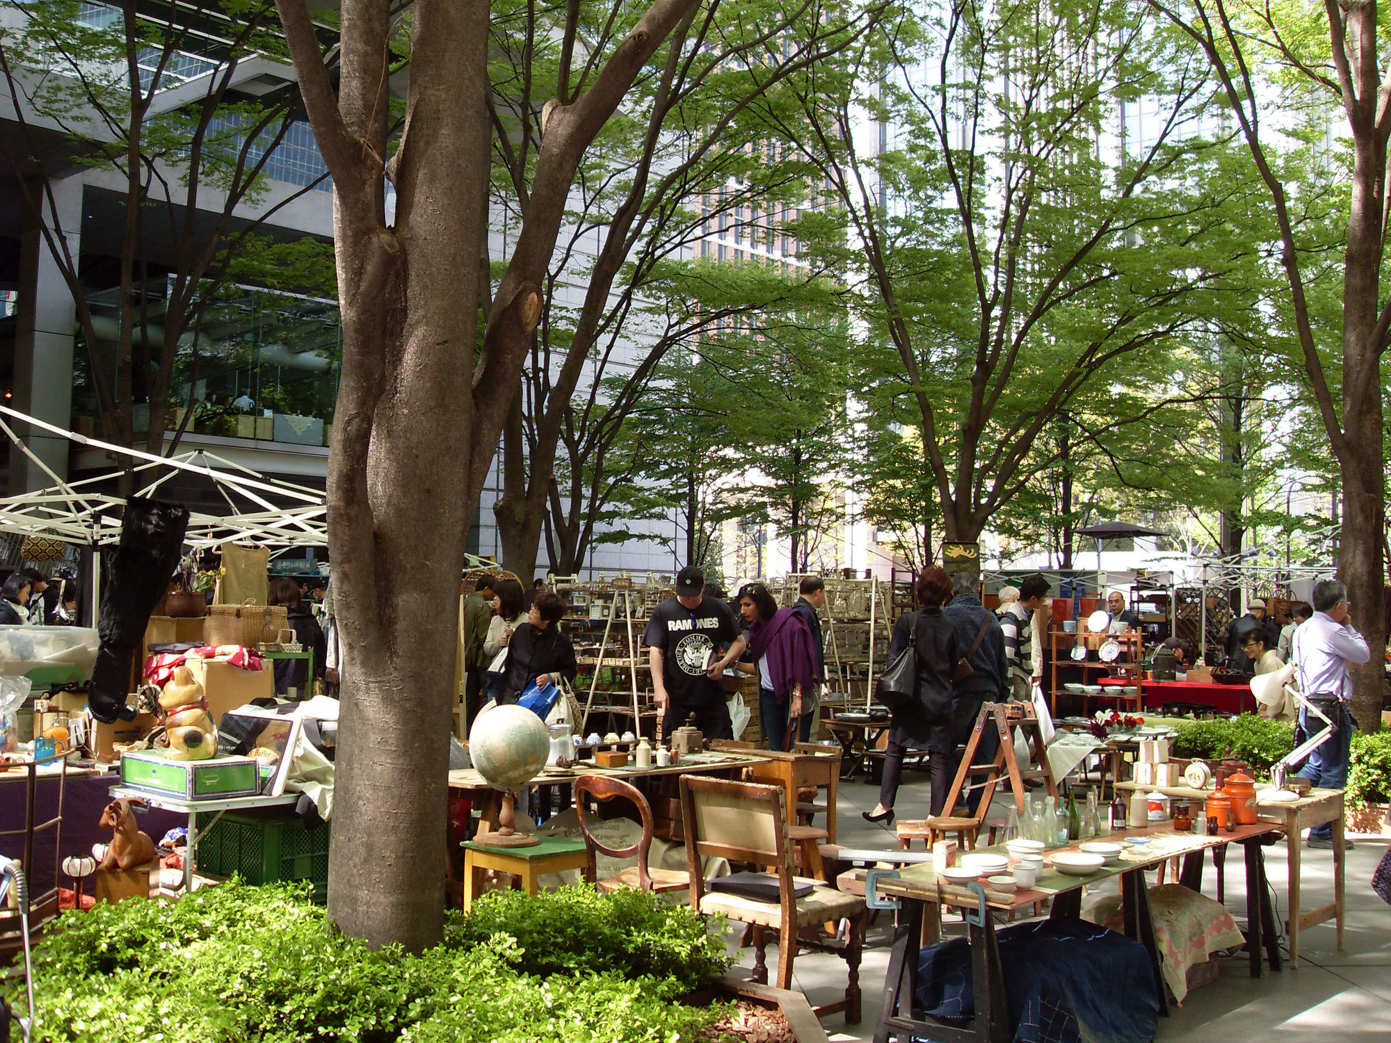
[{"label": "woman in black with shoulder bag and high heels, seen from behind", "polygon": [[951,577],[943,569],[929,566],[918,576],[914,587],[918,611],[904,612],[889,641],[890,669],[896,656],[908,652],[914,658],[915,684],[911,695],[890,706],[889,750],[883,758],[883,783],[879,804],[861,812],[868,822],[893,825],[893,801],[899,795],[903,777],[903,758],[910,748],[928,750],[932,775],[932,814],[940,815],[951,789],[951,762],[956,754],[956,731],[951,727],[951,674],[961,658],[961,644],[956,627],[942,615],[942,606],[951,599]]}]

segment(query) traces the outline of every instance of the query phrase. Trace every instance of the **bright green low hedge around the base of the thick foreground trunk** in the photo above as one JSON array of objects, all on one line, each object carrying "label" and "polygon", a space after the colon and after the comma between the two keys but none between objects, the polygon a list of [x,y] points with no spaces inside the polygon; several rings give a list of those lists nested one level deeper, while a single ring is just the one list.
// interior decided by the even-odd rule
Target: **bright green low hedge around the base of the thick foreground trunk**
[{"label": "bright green low hedge around the base of the thick foreground trunk", "polygon": [[67,912],[36,957],[38,1039],[680,1043],[725,1012],[679,1003],[729,965],[690,909],[588,887],[474,909],[419,957],[344,937],[303,884]]}]

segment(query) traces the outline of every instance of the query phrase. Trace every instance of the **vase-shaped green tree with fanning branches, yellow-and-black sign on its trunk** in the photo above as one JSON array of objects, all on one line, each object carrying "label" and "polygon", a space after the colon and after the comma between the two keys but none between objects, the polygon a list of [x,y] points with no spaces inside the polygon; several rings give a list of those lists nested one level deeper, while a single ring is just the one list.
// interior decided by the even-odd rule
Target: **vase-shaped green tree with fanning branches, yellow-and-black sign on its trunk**
[{"label": "vase-shaped green tree with fanning branches, yellow-and-black sign on its trunk", "polygon": [[[1221,145],[1199,135],[1209,74],[1175,39],[1118,0],[919,4],[818,83],[811,138],[787,128],[844,214],[850,245],[812,249],[854,273],[858,384],[897,392],[949,540],[1061,459],[1061,414],[1167,382],[1160,349],[1219,306],[1239,248],[1210,191]],[[1141,97],[1121,147],[1109,128]]]}]

